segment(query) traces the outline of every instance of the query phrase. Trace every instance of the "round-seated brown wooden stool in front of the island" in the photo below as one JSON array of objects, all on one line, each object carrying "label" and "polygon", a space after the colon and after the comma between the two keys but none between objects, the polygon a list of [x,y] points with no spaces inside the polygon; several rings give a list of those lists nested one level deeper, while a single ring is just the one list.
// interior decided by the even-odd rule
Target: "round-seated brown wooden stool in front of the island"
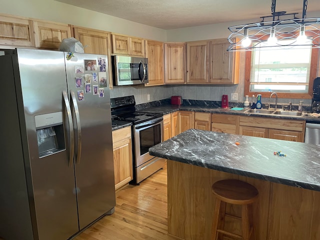
[{"label": "round-seated brown wooden stool in front of the island", "polygon": [[[222,239],[223,235],[234,239],[255,239],[252,222],[252,202],[258,196],[258,190],[251,184],[237,179],[219,180],[212,184],[212,192],[216,197],[211,240]],[[225,213],[225,203],[242,206],[241,217]],[[242,235],[224,230],[224,217],[234,217],[241,220]],[[253,235],[252,235],[253,234]],[[252,235],[252,238],[250,236]]]}]

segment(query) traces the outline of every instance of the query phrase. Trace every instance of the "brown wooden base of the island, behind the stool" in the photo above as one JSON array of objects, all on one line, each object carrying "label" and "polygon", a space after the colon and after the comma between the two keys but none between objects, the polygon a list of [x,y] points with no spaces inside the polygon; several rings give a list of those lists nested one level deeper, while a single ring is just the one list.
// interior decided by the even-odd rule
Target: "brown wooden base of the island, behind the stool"
[{"label": "brown wooden base of the island, behind the stool", "polygon": [[[258,240],[320,239],[320,192],[167,160],[168,233],[185,240],[211,239],[215,198],[213,182],[236,178],[254,185],[253,203]],[[240,215],[239,206],[227,211]],[[225,217],[225,228],[237,233],[240,223]]]}]

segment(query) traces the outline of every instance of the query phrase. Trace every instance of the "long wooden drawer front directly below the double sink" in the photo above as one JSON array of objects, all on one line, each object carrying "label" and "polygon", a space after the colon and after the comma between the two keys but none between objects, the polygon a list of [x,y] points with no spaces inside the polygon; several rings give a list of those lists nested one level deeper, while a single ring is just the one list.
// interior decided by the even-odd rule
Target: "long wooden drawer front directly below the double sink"
[{"label": "long wooden drawer front directly below the double sink", "polygon": [[273,129],[303,131],[304,121],[288,120],[288,119],[271,119],[264,117],[240,116],[239,125],[256,126]]}]

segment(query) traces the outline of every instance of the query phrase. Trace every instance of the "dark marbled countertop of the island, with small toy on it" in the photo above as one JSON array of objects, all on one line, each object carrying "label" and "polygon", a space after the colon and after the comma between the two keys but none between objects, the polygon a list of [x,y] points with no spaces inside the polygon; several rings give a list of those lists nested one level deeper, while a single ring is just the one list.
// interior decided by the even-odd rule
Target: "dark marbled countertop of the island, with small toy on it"
[{"label": "dark marbled countertop of the island, with small toy on it", "polygon": [[189,129],[150,147],[149,154],[320,191],[320,145],[316,144]]}]

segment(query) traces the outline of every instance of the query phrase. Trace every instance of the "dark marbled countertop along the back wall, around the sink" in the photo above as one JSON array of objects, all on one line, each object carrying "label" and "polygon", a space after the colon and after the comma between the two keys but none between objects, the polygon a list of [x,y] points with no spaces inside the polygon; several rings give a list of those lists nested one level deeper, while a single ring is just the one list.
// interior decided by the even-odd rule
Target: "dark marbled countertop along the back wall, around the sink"
[{"label": "dark marbled countertop along the back wall, around the sink", "polygon": [[214,106],[166,104],[166,105],[152,106],[148,108],[139,109],[139,111],[162,112],[163,114],[168,114],[178,110],[243,115],[243,116],[269,117],[269,118],[278,118],[278,119],[280,118],[280,119],[290,119],[290,120],[306,120],[308,122],[320,123],[320,117],[246,113],[244,111],[247,110],[247,108],[244,108],[242,110],[231,110],[231,108],[222,108],[222,107],[214,107]]}]

